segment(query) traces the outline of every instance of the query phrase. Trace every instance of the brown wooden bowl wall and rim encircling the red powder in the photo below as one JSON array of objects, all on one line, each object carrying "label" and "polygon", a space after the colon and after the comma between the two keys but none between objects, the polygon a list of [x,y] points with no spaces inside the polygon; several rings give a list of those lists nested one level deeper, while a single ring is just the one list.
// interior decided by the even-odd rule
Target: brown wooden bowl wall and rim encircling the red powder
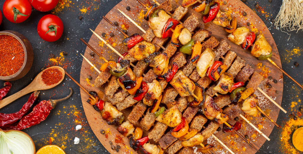
[{"label": "brown wooden bowl wall and rim encircling the red powder", "polygon": [[17,31],[7,30],[7,31],[0,31],[0,35],[9,35],[9,36],[12,36],[12,37],[14,37],[15,39],[17,39],[21,43],[21,45],[23,47],[23,52],[24,52],[24,61],[23,61],[23,64],[22,64],[21,68],[15,74],[12,74],[10,76],[5,76],[5,77],[4,76],[0,76],[0,80],[10,80],[10,79],[12,79],[14,77],[17,77],[22,72],[22,70],[24,69],[24,67],[26,65],[26,62],[27,62],[27,50],[25,48],[25,44],[21,40],[21,38],[19,38],[16,34],[14,34],[12,32],[21,34],[21,33],[17,32]]}]

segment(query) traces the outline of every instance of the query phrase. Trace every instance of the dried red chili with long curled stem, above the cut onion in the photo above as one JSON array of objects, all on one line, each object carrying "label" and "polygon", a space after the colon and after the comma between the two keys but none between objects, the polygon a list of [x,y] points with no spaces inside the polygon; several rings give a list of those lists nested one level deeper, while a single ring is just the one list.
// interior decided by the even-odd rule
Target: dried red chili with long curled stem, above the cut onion
[{"label": "dried red chili with long curled stem, above the cut onion", "polygon": [[70,87],[71,93],[62,99],[59,100],[42,100],[40,103],[38,103],[34,108],[31,113],[28,115],[24,116],[19,123],[14,123],[12,125],[5,125],[1,129],[8,130],[8,129],[14,129],[14,130],[22,130],[25,128],[28,128],[30,126],[37,125],[41,123],[43,120],[46,119],[48,114],[51,112],[51,110],[55,107],[55,105],[63,100],[68,99],[69,97],[72,96],[73,90]]}]

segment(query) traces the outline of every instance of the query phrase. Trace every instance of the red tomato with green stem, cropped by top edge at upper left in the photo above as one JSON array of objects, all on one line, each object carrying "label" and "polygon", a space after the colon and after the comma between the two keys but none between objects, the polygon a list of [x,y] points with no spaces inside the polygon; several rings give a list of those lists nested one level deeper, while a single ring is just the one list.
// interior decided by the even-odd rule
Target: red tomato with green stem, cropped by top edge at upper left
[{"label": "red tomato with green stem, cropped by top edge at upper left", "polygon": [[32,13],[32,5],[28,0],[6,0],[3,4],[3,14],[8,21],[21,23]]}]

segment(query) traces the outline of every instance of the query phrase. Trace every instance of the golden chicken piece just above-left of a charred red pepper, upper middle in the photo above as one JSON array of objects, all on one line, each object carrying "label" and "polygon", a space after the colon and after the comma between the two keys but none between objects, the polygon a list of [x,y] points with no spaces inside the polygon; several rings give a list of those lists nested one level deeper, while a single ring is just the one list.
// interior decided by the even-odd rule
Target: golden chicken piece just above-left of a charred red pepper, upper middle
[{"label": "golden chicken piece just above-left of a charred red pepper, upper middle", "polygon": [[169,63],[169,58],[167,57],[166,53],[163,53],[155,57],[154,60],[151,61],[149,66],[154,67],[153,70],[155,74],[160,75],[162,74],[163,70],[168,67],[168,63]]}]

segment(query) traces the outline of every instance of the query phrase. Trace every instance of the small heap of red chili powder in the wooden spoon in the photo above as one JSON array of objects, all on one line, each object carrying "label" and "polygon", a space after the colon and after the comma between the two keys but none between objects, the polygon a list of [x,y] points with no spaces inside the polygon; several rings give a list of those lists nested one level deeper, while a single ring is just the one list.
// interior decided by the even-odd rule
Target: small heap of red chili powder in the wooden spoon
[{"label": "small heap of red chili powder in the wooden spoon", "polygon": [[58,68],[49,68],[43,71],[41,77],[44,84],[50,86],[58,83],[62,79],[62,73]]}]

